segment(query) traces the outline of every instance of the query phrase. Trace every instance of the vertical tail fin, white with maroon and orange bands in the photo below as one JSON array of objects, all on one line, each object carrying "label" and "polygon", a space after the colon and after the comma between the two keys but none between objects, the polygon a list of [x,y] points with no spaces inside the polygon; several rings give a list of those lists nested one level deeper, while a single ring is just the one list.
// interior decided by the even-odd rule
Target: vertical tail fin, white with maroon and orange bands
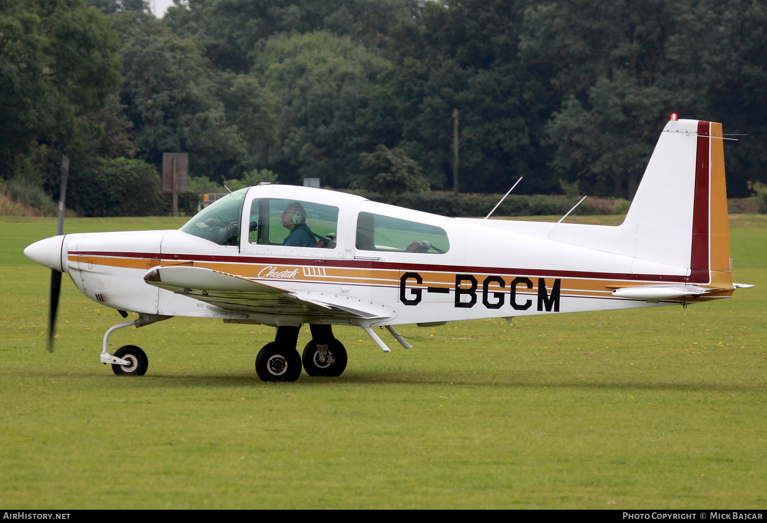
[{"label": "vertical tail fin, white with maroon and orange bands", "polygon": [[670,121],[624,225],[636,257],[687,267],[690,283],[732,287],[722,124]]}]

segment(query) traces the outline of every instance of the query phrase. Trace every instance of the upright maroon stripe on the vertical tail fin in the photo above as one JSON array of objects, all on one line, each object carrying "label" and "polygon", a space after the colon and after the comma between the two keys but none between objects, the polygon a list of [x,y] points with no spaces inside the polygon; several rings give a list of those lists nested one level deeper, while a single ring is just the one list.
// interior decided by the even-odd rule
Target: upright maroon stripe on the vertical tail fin
[{"label": "upright maroon stripe on the vertical tail fin", "polygon": [[[695,200],[693,206],[693,246],[690,254],[690,270],[699,280],[703,276],[696,271],[709,270],[709,138],[710,122],[698,122],[698,151],[695,159]],[[691,274],[690,276],[693,276]],[[708,274],[704,276],[706,282]],[[692,278],[691,278],[692,280]]]}]

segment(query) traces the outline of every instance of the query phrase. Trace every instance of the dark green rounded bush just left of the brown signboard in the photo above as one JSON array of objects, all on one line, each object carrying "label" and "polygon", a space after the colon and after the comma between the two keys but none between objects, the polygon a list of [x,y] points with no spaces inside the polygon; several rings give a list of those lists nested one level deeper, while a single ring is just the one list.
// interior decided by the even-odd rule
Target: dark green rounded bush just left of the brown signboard
[{"label": "dark green rounded bush just left of the brown signboard", "polygon": [[67,206],[85,217],[163,214],[160,188],[152,164],[117,158],[72,180]]}]

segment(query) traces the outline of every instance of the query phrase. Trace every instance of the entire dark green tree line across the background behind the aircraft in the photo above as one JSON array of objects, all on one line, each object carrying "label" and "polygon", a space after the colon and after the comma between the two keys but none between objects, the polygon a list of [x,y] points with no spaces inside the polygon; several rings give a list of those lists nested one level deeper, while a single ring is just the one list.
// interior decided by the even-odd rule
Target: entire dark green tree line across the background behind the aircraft
[{"label": "entire dark green tree line across the background behind the aircraft", "polygon": [[0,176],[50,200],[65,153],[85,215],[166,205],[176,151],[195,187],[443,190],[457,109],[463,193],[630,198],[676,112],[747,135],[746,196],[765,62],[756,0],[0,0]]}]

